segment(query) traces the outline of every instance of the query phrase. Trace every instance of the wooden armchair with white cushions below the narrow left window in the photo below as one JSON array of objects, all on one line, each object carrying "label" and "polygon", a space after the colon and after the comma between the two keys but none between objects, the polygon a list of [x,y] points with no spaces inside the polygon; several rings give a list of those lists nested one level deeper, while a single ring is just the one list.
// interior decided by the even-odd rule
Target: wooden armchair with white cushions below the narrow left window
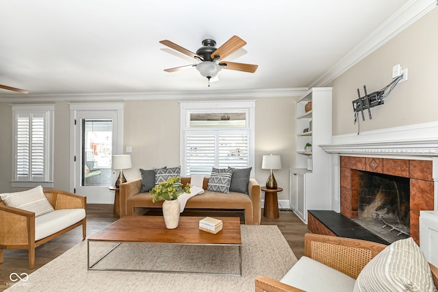
[{"label": "wooden armchair with white cushions below the narrow left window", "polygon": [[[36,207],[14,198],[20,194]],[[29,269],[34,269],[36,247],[78,226],[86,238],[86,197],[41,187],[0,194],[0,222],[0,263],[3,250],[28,250]]]}]

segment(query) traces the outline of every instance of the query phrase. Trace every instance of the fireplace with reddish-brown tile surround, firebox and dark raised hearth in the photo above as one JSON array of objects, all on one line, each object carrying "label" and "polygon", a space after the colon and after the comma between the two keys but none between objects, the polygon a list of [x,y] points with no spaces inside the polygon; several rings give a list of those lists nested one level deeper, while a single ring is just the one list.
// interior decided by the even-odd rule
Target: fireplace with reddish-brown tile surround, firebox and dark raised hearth
[{"label": "fireplace with reddish-brown tile surround, firebox and dark raised hearth", "polygon": [[[365,178],[365,182],[360,182],[361,177],[367,176],[367,174],[374,176],[371,179]],[[312,211],[312,214],[309,214],[309,230],[311,232],[365,240],[370,240],[368,238],[374,236],[376,239],[391,243],[407,237],[407,234],[403,232],[400,234],[398,230],[391,230],[396,226],[394,222],[398,223],[400,221],[404,222],[404,224],[401,224],[402,226],[409,227],[409,232],[406,231],[405,233],[409,233],[414,241],[420,243],[420,210],[433,210],[434,208],[432,161],[340,156],[339,175],[341,212]],[[367,180],[371,180],[372,186],[367,186]],[[394,180],[395,182],[393,182]],[[365,196],[365,199],[359,199],[359,193],[370,193],[372,195],[385,193],[385,197],[387,196],[386,193],[392,193],[393,195],[395,193],[397,199],[378,199],[379,203],[376,204],[373,203],[375,197],[371,199]],[[406,202],[408,193],[409,202]],[[385,206],[384,201],[388,201],[389,206]],[[371,205],[373,205],[373,208],[369,208]],[[398,207],[399,205],[400,207]],[[374,215],[375,219],[359,218],[359,213],[363,215],[363,209],[365,208],[372,209],[369,213]],[[385,222],[391,223],[393,227],[378,220],[382,217]],[[348,223],[348,220],[367,230],[371,236],[352,226],[351,223]],[[398,229],[401,230],[402,228]],[[365,237],[362,237],[363,234],[365,234]],[[372,241],[381,242],[374,239]]]}]

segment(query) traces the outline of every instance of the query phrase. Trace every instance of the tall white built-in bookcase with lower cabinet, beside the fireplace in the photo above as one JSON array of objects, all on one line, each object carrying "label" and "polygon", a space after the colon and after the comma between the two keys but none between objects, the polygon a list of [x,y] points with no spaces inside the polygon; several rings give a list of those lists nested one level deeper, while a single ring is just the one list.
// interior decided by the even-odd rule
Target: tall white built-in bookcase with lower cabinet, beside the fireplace
[{"label": "tall white built-in bookcase with lower cabinet, beside the fireplace", "polygon": [[[331,172],[327,167],[331,157],[319,146],[331,142],[331,89],[311,88],[296,101],[296,159],[289,171],[289,206],[305,223],[308,208],[331,208]],[[309,101],[312,108],[306,112]],[[311,151],[306,151],[309,143]]]}]

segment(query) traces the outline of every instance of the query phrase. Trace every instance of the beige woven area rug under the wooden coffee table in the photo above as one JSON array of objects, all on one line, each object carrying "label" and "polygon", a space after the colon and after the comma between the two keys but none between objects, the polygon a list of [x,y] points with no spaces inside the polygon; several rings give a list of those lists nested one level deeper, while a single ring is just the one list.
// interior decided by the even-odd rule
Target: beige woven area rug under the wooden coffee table
[{"label": "beige woven area rug under the wooden coffee table", "polygon": [[[297,259],[277,226],[241,226],[242,276],[219,276],[192,273],[156,273],[132,271],[89,271],[87,242],[83,241],[47,265],[29,275],[26,282],[17,282],[12,291],[255,291],[259,275],[276,280],[296,263]],[[92,243],[93,244],[93,243]],[[181,245],[120,245],[99,267],[131,269],[142,267],[161,270],[238,272],[238,254],[226,247]],[[92,246],[90,262],[100,257],[107,246]],[[151,260],[151,259],[157,260]],[[97,265],[96,265],[97,266]]]}]

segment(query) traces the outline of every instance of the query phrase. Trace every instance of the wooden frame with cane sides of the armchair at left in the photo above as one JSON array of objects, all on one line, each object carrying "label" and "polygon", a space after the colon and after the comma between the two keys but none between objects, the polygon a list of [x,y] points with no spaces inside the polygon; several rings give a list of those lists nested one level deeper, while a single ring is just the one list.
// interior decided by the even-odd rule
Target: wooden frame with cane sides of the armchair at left
[{"label": "wooden frame with cane sides of the armchair at left", "polygon": [[[66,191],[47,189],[44,195],[55,210],[83,208],[86,210],[86,197]],[[0,263],[3,263],[3,250],[28,250],[29,269],[35,267],[35,248],[51,241],[78,226],[82,226],[82,236],[86,239],[86,220],[68,226],[50,236],[35,241],[35,213],[5,205],[0,199]]]}]

